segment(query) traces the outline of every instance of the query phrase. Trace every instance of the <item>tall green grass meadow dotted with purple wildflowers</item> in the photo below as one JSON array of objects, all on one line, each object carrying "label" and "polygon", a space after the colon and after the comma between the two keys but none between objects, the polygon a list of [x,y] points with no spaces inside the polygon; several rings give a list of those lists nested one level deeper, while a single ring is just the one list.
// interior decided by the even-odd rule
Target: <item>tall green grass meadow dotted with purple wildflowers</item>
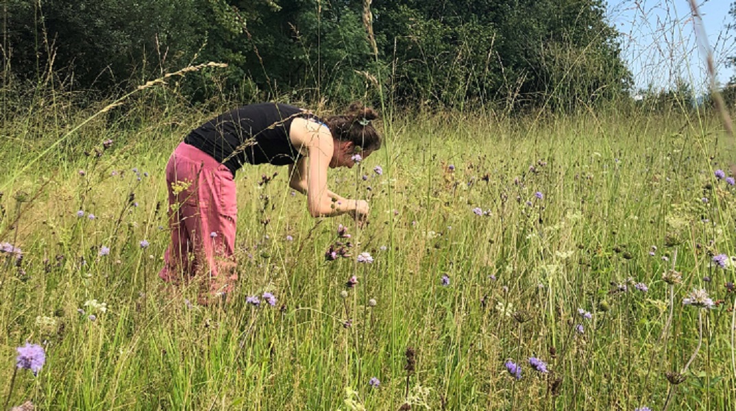
[{"label": "tall green grass meadow dotted with purple wildflowers", "polygon": [[[735,151],[718,119],[397,116],[381,151],[330,171],[369,198],[362,228],[311,218],[286,168],[244,168],[240,281],[202,307],[157,272],[166,161],[211,114],[144,107],[57,146],[84,116],[4,124],[5,409],[736,408],[736,187],[716,176]],[[701,289],[713,307],[684,304]],[[247,303],[263,293],[275,305]],[[16,368],[26,342],[46,351],[38,376]]]}]

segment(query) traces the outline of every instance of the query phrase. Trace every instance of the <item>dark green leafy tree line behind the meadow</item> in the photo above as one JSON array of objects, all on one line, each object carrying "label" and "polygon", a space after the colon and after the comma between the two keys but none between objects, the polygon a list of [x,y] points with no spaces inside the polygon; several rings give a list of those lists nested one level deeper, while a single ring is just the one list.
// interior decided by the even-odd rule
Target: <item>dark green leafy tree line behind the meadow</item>
[{"label": "dark green leafy tree line behind the meadow", "polygon": [[[4,85],[121,93],[168,71],[194,101],[567,109],[628,96],[603,0],[6,0]],[[375,49],[368,39],[372,23]],[[379,87],[380,86],[380,87]]]}]

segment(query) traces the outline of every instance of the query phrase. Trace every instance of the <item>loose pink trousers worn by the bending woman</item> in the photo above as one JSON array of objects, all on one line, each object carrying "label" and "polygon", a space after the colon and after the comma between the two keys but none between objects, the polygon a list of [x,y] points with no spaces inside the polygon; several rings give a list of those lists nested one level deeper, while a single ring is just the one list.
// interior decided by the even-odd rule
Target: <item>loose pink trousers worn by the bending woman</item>
[{"label": "loose pink trousers worn by the bending woman", "polygon": [[171,243],[158,276],[174,284],[197,279],[210,293],[229,293],[238,279],[233,174],[204,151],[180,143],[166,165],[166,185]]}]

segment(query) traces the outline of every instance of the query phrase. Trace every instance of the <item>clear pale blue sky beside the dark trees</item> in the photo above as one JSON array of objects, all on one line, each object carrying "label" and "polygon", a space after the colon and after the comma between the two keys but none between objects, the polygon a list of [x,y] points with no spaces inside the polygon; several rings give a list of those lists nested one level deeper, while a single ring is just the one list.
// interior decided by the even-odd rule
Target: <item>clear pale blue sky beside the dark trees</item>
[{"label": "clear pale blue sky beside the dark trees", "polygon": [[[713,50],[718,81],[736,74],[726,57],[736,56],[736,21],[729,15],[734,0],[698,0],[708,43]],[[608,0],[608,18],[623,33],[623,58],[637,88],[659,89],[681,77],[698,91],[707,88],[704,56],[698,48],[696,26],[688,0]]]}]

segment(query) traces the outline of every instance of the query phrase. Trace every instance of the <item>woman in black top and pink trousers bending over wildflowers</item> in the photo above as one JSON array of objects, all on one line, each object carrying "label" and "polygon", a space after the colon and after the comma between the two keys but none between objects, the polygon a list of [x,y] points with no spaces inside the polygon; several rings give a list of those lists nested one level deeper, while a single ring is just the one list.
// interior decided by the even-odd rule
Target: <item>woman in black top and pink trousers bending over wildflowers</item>
[{"label": "woman in black top and pink trousers bending over wildflowers", "polygon": [[381,147],[371,124],[376,118],[361,104],[322,121],[294,106],[263,103],[226,112],[192,131],[166,165],[171,244],[159,276],[176,283],[198,276],[212,295],[231,290],[237,279],[234,177],[246,163],[289,165],[289,186],[307,196],[315,218],[346,212],[365,218],[368,203],[330,191],[327,171],[352,168]]}]

